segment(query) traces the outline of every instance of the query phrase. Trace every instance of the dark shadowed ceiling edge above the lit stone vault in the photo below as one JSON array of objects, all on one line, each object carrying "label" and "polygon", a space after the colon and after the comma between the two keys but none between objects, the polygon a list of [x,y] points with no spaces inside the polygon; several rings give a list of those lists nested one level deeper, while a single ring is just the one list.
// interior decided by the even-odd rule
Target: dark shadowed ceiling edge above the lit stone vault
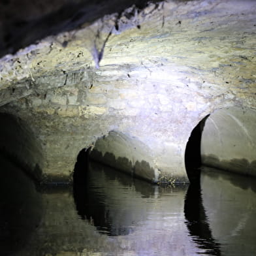
[{"label": "dark shadowed ceiling edge above the lit stone vault", "polygon": [[1,0],[0,57],[105,14],[121,14],[132,5],[140,9],[147,3],[148,0]]}]

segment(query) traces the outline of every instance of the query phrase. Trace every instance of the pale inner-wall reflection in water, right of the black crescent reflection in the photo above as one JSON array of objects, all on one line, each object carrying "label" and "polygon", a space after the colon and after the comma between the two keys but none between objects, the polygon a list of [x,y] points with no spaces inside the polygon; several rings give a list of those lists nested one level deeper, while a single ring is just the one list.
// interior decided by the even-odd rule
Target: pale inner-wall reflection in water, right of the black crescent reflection
[{"label": "pale inner-wall reflection in water, right of the black crescent reflection", "polygon": [[256,179],[204,167],[202,202],[223,255],[255,255]]}]

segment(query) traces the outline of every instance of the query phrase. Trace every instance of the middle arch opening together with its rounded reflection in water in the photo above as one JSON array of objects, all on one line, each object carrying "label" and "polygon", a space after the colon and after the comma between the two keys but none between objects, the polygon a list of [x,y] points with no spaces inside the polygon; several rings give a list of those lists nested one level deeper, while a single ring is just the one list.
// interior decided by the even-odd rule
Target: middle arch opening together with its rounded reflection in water
[{"label": "middle arch opening together with its rounded reflection in water", "polygon": [[146,218],[145,211],[139,211],[135,189],[157,195],[155,185],[145,182],[155,179],[151,164],[141,142],[116,131],[98,138],[93,148],[81,150],[73,172],[73,197],[80,218],[108,236],[133,232],[135,223]]}]

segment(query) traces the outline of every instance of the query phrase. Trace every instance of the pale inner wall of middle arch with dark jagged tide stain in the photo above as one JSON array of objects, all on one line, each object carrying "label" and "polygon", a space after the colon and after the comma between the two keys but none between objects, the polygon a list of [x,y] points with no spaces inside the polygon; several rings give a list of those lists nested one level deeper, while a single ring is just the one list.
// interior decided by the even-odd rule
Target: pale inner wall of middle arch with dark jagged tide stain
[{"label": "pale inner wall of middle arch with dark jagged tide stain", "polygon": [[89,157],[131,176],[158,182],[159,174],[150,156],[150,149],[131,135],[110,131],[95,142]]}]

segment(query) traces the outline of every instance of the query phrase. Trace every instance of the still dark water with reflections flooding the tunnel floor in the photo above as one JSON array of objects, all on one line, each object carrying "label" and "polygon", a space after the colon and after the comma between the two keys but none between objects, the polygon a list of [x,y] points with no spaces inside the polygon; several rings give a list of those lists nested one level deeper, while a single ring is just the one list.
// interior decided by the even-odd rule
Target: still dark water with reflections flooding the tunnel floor
[{"label": "still dark water with reflections flooding the tunnel floor", "polygon": [[0,255],[256,255],[256,181],[204,168],[163,187],[91,163],[35,187],[1,159]]}]

